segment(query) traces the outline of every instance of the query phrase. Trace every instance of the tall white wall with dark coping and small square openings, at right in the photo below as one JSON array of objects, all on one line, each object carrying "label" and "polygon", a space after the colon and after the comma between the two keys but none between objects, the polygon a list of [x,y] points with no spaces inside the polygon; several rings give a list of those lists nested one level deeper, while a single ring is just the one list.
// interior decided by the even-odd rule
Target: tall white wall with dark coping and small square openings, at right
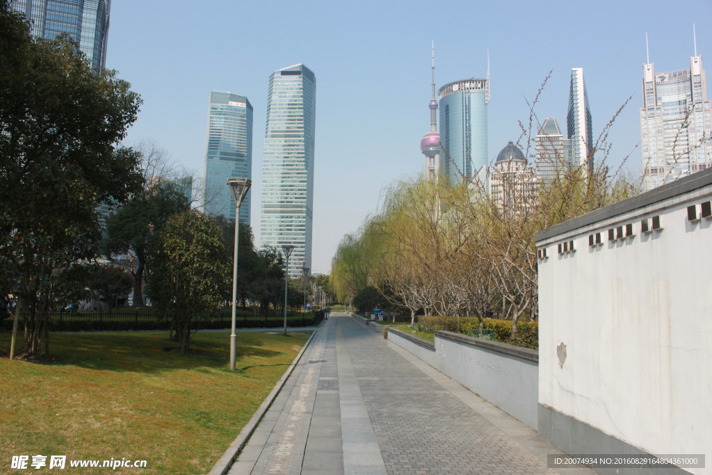
[{"label": "tall white wall with dark coping and small square openings, at right", "polygon": [[[712,220],[686,214],[711,198],[707,185],[649,199],[538,241],[540,404],[651,454],[712,456]],[[651,216],[664,228],[643,234]],[[621,224],[635,235],[609,241]]]}]

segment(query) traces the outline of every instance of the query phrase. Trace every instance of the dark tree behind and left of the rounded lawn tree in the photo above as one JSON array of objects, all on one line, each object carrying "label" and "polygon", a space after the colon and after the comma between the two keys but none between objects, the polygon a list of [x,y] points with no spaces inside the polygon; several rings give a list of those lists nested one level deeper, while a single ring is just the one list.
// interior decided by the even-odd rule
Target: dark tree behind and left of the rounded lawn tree
[{"label": "dark tree behind and left of the rounded lawn tree", "polygon": [[157,236],[170,216],[188,206],[182,190],[157,185],[142,190],[109,216],[104,251],[107,255],[129,253],[135,258],[136,266],[129,267],[133,276],[135,307],[143,306],[144,274],[158,246]]}]

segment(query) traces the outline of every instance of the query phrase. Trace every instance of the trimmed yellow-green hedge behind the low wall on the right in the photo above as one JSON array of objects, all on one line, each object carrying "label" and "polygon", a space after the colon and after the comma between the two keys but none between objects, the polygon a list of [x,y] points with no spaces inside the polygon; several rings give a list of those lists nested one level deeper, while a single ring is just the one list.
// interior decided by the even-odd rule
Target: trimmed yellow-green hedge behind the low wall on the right
[{"label": "trimmed yellow-green hedge behind the low wall on the right", "polygon": [[[472,328],[479,328],[480,322],[476,317],[444,317],[441,315],[417,317],[418,323],[425,325],[431,333],[436,330],[451,331],[454,333],[468,334]],[[539,349],[539,323],[538,322],[518,322],[517,336],[512,338],[511,320],[498,320],[496,318],[483,318],[483,328],[494,330],[493,340],[510,345]]]}]

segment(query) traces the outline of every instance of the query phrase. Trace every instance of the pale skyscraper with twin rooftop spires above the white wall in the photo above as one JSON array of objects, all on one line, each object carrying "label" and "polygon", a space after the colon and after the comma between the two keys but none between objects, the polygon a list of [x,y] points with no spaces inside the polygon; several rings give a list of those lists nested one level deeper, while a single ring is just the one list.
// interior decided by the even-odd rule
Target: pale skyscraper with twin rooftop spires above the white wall
[{"label": "pale skyscraper with twin rooftop spires above the white wall", "polygon": [[644,189],[712,167],[711,132],[705,70],[696,48],[683,71],[656,75],[648,59],[640,108]]}]

